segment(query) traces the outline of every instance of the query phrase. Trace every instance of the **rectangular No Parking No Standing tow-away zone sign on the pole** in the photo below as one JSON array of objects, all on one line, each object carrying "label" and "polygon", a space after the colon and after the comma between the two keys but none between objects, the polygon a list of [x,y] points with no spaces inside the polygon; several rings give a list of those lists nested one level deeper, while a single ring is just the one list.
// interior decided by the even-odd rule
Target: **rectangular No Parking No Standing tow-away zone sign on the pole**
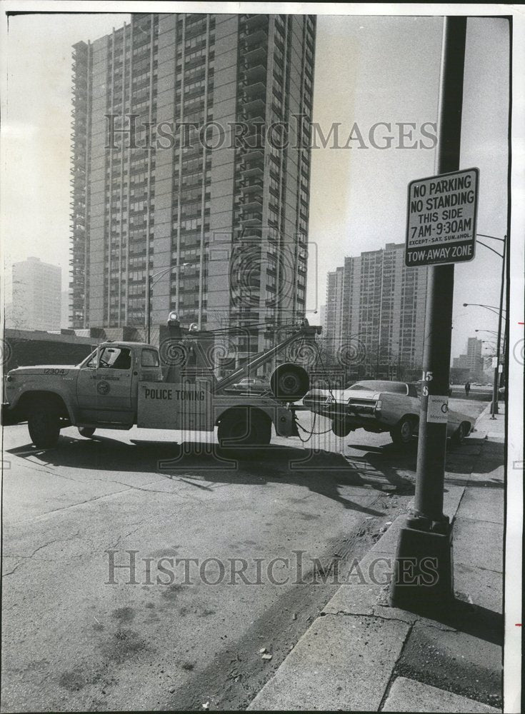
[{"label": "rectangular No Parking No Standing tow-away zone sign on the pole", "polygon": [[476,252],[479,169],[409,183],[406,266],[471,261]]}]

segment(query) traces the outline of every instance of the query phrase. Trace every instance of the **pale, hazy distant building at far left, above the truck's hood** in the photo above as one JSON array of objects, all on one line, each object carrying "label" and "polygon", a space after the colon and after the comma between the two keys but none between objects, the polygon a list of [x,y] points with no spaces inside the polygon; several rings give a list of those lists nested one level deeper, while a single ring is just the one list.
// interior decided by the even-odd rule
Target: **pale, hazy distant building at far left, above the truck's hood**
[{"label": "pale, hazy distant building at far left, above the truck's hood", "polygon": [[59,330],[61,268],[27,258],[13,264],[13,303],[8,327],[18,330]]}]

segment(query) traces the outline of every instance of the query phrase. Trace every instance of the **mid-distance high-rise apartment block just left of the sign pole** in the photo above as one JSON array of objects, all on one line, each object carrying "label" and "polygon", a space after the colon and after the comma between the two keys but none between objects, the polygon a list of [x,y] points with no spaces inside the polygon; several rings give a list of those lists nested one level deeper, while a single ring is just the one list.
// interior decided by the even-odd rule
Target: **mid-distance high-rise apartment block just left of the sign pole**
[{"label": "mid-distance high-rise apartment block just left of the sign pole", "polygon": [[421,367],[427,272],[407,268],[404,249],[387,243],[328,273],[327,341],[335,350],[353,346],[354,365],[366,376],[401,378]]}]

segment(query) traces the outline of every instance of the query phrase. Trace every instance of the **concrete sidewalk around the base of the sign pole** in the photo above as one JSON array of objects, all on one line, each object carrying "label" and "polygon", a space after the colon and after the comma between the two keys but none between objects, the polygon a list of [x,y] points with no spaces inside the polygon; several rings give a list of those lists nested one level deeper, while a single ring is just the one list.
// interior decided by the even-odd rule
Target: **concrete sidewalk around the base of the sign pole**
[{"label": "concrete sidewalk around the base of the sign pole", "polygon": [[501,712],[503,403],[499,411],[493,421],[487,407],[447,461],[454,463],[444,511],[454,519],[456,592],[447,621],[388,605],[400,516],[249,710]]}]

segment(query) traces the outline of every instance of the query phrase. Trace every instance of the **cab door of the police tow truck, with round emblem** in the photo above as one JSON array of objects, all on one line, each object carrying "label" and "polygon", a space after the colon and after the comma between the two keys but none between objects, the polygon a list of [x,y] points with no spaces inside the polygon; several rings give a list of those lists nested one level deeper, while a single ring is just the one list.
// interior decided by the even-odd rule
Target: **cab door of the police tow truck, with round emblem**
[{"label": "cab door of the police tow truck, with round emblem", "polygon": [[134,357],[131,348],[104,346],[79,371],[76,398],[80,421],[87,423],[133,423],[132,380]]}]

